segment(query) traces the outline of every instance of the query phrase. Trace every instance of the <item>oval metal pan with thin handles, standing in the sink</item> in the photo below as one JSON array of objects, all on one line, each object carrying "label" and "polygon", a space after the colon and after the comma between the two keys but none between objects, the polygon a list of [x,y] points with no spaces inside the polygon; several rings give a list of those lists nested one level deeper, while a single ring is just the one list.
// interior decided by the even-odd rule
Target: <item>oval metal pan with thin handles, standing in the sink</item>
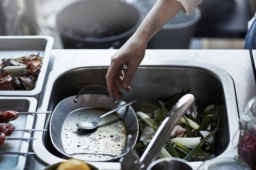
[{"label": "oval metal pan with thin handles, standing in the sink", "polygon": [[[101,85],[88,85],[88,86],[84,87],[79,92],[79,94],[77,96],[70,96],[67,99],[62,100],[59,104],[57,104],[56,108],[54,109],[54,111],[52,113],[51,119],[50,119],[50,128],[49,129],[50,129],[51,141],[57,151],[59,151],[61,154],[65,155],[69,158],[76,158],[76,159],[80,159],[80,160],[84,160],[84,161],[110,161],[110,160],[118,159],[121,156],[125,155],[128,151],[127,150],[127,142],[126,142],[127,136],[132,135],[132,138],[131,138],[132,147],[135,146],[135,143],[138,138],[138,129],[139,129],[138,119],[137,119],[136,114],[131,106],[116,111],[116,113],[118,114],[120,119],[122,119],[122,121],[123,121],[123,124],[125,127],[125,133],[126,133],[126,135],[123,136],[124,144],[121,145],[122,149],[121,149],[121,151],[119,151],[118,155],[115,153],[104,153],[104,151],[103,151],[103,153],[92,151],[94,148],[91,148],[91,149],[83,148],[84,144],[97,145],[96,146],[97,148],[98,148],[98,146],[105,147],[106,143],[104,143],[100,140],[100,138],[102,138],[104,135],[104,131],[102,131],[103,134],[101,134],[101,133],[98,134],[99,138],[96,138],[96,140],[95,140],[95,138],[94,139],[91,138],[92,140],[89,141],[91,144],[88,143],[88,141],[86,141],[86,143],[83,143],[83,141],[80,139],[83,139],[84,136],[87,136],[87,137],[90,136],[90,133],[92,133],[92,132],[91,131],[82,131],[82,130],[79,131],[80,129],[73,129],[74,126],[72,128],[70,128],[70,127],[65,128],[69,133],[67,132],[67,134],[65,134],[65,135],[67,135],[66,138],[63,137],[64,122],[69,120],[70,115],[74,111],[79,111],[79,110],[83,111],[83,109],[94,109],[94,108],[107,108],[109,110],[112,110],[112,109],[118,107],[119,105],[122,105],[125,103],[122,100],[115,101],[113,98],[111,98],[110,96],[106,96],[106,95],[80,94],[85,88],[88,88],[90,86],[100,86],[100,87],[106,88]],[[76,119],[76,117],[73,117],[73,118]],[[105,126],[102,126],[102,128],[104,128],[104,127],[107,127],[107,124]],[[68,128],[70,128],[70,129],[68,129]],[[77,130],[77,131],[75,131],[75,130]],[[114,131],[114,129],[113,129],[113,131]],[[64,133],[66,133],[66,132],[64,132]],[[73,133],[76,133],[76,134],[74,135]],[[115,132],[113,132],[113,133],[115,133]],[[110,135],[110,137],[113,137],[113,135]],[[74,148],[74,152],[75,152],[75,150],[78,151],[78,149],[79,149],[79,152],[71,153],[69,151],[67,153],[67,150],[65,150],[63,148],[65,140],[71,140],[71,141],[69,141],[70,143],[69,143],[68,148],[70,148],[70,147]],[[81,141],[81,143],[79,142],[79,145],[81,147],[79,147],[77,145],[78,140]],[[112,149],[114,150],[115,148],[116,148],[116,146],[113,146]],[[104,150],[105,150],[105,148],[104,148]],[[78,155],[80,156],[79,158],[77,158]],[[87,158],[82,157],[83,155],[85,155],[85,157],[87,157]],[[88,155],[90,155],[92,158],[88,158]],[[94,159],[95,156],[97,158]]]}]

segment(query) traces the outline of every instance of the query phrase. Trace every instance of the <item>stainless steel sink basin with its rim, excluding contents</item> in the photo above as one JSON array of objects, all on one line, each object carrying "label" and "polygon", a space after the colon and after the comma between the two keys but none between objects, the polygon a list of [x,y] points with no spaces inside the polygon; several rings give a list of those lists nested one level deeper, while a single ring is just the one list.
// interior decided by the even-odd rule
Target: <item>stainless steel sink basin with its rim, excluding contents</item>
[{"label": "stainless steel sink basin with its rim, excluding contents", "polygon": [[[39,96],[38,111],[53,111],[63,99],[76,95],[88,84],[106,85],[107,67],[76,68],[74,65],[52,70],[45,78],[46,87]],[[124,92],[123,100],[138,97],[144,101],[168,99],[182,89],[191,89],[200,109],[210,104],[218,104],[220,117],[219,130],[216,133],[215,155],[218,157],[233,157],[237,155],[235,138],[239,128],[239,116],[236,104],[234,83],[230,75],[214,65],[193,62],[174,61],[170,66],[142,66],[136,71],[130,93]],[[91,88],[83,92],[108,94],[106,90]],[[36,128],[48,128],[50,115],[37,116]],[[37,158],[45,164],[63,161],[63,155],[57,152],[46,132],[35,132],[33,150]],[[191,162],[193,168],[198,168],[203,162]],[[117,162],[93,162],[101,169],[120,169]]]}]

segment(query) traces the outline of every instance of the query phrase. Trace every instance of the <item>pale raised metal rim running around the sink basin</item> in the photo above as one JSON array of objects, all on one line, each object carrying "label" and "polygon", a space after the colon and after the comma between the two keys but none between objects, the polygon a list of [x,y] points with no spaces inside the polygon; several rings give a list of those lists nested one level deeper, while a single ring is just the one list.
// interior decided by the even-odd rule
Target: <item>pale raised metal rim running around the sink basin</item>
[{"label": "pale raised metal rim running around the sink basin", "polygon": [[[227,146],[226,150],[222,154],[217,156],[216,158],[221,158],[221,157],[234,158],[237,155],[236,145],[238,144],[238,136],[235,134],[239,130],[239,114],[238,114],[238,108],[237,108],[237,103],[236,103],[234,82],[232,80],[232,77],[224,69],[217,67],[215,65],[204,63],[204,62],[198,62],[198,61],[195,62],[195,61],[191,61],[191,60],[173,60],[173,61],[171,61],[171,63],[172,63],[171,65],[169,65],[169,64],[147,65],[147,66],[140,66],[140,67],[196,68],[196,69],[205,70],[205,71],[208,71],[208,72],[214,74],[221,81],[221,83],[223,85],[224,96],[225,96],[226,110],[228,113],[227,117],[228,117],[228,125],[229,125],[230,143]],[[66,71],[72,70],[72,69],[77,69],[77,68],[90,69],[90,68],[106,68],[106,67],[108,67],[108,66],[85,67],[85,66],[83,66],[82,63],[80,63],[80,64],[77,63],[76,65],[69,63],[69,64],[62,65],[62,67],[53,69],[51,72],[49,72],[49,74],[45,78],[43,90],[39,96],[37,111],[46,111],[47,110],[53,83],[57,77],[59,77]],[[45,120],[46,120],[45,114],[37,115],[34,128],[38,128],[38,129],[44,128]],[[45,148],[42,136],[43,136],[42,132],[34,133],[34,138],[37,138],[37,139],[33,141],[32,149],[36,153],[37,159],[45,165],[65,161],[65,159],[61,159],[61,158],[51,154]],[[233,137],[235,137],[235,138],[233,139]],[[214,159],[211,159],[211,160],[214,160]],[[209,161],[211,161],[211,160],[209,160]],[[121,165],[116,162],[90,162],[90,163],[100,169],[116,169],[116,170],[121,169]],[[193,169],[199,168],[202,163],[203,162],[189,162],[189,164],[193,167]]]}]

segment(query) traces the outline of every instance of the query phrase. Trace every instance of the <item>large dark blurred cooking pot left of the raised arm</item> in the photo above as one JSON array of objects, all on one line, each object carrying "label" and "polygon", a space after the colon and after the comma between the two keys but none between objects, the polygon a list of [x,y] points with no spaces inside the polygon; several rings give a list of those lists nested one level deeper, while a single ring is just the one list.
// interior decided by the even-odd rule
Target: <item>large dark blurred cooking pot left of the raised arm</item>
[{"label": "large dark blurred cooking pot left of the raised arm", "polygon": [[139,25],[139,12],[118,0],[85,0],[64,8],[56,19],[66,49],[120,48]]}]

